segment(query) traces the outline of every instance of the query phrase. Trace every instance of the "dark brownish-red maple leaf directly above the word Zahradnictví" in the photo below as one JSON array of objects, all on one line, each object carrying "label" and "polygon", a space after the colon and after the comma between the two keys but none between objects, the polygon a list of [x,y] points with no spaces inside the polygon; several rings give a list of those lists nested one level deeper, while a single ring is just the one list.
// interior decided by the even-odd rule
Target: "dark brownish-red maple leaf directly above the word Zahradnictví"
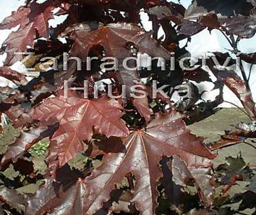
[{"label": "dark brownish-red maple leaf directly above the word Zahradnictv\u00ed", "polygon": [[[104,47],[105,56],[117,57],[119,59],[131,56],[131,46],[140,51],[140,53],[147,53],[152,57],[170,58],[169,52],[159,46],[154,39],[151,39],[149,33],[143,31],[136,24],[108,24],[89,32],[87,30],[78,30],[74,31],[70,38],[75,40],[75,44],[73,44],[71,49],[71,55],[79,56],[82,59],[85,59],[89,49],[97,44]],[[127,46],[128,43],[131,46]]]}]

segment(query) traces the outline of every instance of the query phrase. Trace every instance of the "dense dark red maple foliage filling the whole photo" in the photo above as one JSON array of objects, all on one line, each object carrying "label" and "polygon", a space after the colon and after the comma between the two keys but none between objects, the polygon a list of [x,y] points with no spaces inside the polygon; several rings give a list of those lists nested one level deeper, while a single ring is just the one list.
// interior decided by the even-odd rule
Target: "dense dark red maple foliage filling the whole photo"
[{"label": "dense dark red maple foliage filling the whole photo", "polygon": [[[8,116],[21,132],[1,155],[1,170],[13,165],[12,171],[21,175],[10,179],[1,173],[1,212],[232,214],[230,207],[221,206],[241,200],[241,210],[255,207],[247,201],[253,196],[255,200],[255,176],[248,164],[239,156],[228,157],[226,164],[214,169],[212,160],[216,155],[211,151],[256,137],[256,109],[248,80],[242,80],[233,71],[234,60],[224,70],[215,67],[211,59],[206,61],[208,71],[185,71],[179,64],[183,56],[190,55],[179,42],[189,41],[205,28],[222,31],[233,47],[232,54],[237,54],[239,40],[255,35],[255,6],[253,0],[194,0],[187,10],[181,4],[160,0],[30,0],[6,17],[0,30],[19,28],[10,33],[1,47],[1,53],[7,57],[0,67],[0,76],[17,87],[1,88],[0,113]],[[142,10],[152,21],[152,32],[143,29]],[[66,20],[55,28],[49,26],[48,21],[59,15],[67,15]],[[165,37],[158,37],[160,26]],[[35,55],[15,55],[27,51]],[[73,58],[65,70],[64,52],[81,58],[82,69],[78,69]],[[151,68],[133,71],[119,62],[113,71],[100,67],[105,56],[120,60],[145,53],[165,59],[165,70],[161,71],[155,61]],[[173,53],[176,69],[170,71]],[[255,53],[239,54],[244,62],[255,64]],[[214,55],[220,63],[229,56]],[[42,57],[47,60],[41,61]],[[87,57],[98,57],[90,69]],[[12,70],[10,66],[19,60],[26,67],[33,67],[39,76],[28,81],[26,74]],[[136,63],[132,61],[131,66]],[[217,81],[210,78],[209,71]],[[170,97],[172,87],[190,84],[193,98],[180,103],[160,94],[154,98],[152,80],[157,81],[157,87],[168,84],[165,92]],[[88,98],[84,98],[82,90],[68,90],[65,98],[64,81],[68,81],[69,87],[83,87],[86,81]],[[134,81],[143,83],[145,98],[131,98]],[[214,101],[203,101],[192,81],[214,83],[219,96]],[[93,86],[98,82],[104,89],[93,98]],[[113,86],[114,99],[107,96],[109,85]],[[122,85],[127,86],[126,98],[118,98]],[[206,146],[204,137],[192,134],[187,125],[217,111],[224,101],[224,85],[240,99],[251,124],[237,125],[234,132],[226,132],[218,142]],[[36,171],[40,159],[32,151],[43,139],[50,141],[45,151],[47,169]],[[78,154],[82,167],[71,167],[70,162]],[[239,180],[251,182],[248,191],[235,198],[225,196]],[[37,191],[21,192],[22,187],[30,185]],[[218,195],[220,186],[223,189]]]}]

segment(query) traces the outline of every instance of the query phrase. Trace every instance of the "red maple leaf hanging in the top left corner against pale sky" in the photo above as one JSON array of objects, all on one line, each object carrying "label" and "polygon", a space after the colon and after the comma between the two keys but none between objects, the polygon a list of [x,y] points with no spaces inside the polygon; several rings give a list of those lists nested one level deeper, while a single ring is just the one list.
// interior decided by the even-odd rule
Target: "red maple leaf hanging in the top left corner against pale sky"
[{"label": "red maple leaf hanging in the top left corner against pale sky", "polygon": [[3,42],[7,53],[5,65],[21,60],[21,55],[14,55],[14,53],[24,52],[27,46],[33,46],[37,34],[39,37],[49,38],[48,21],[53,19],[51,11],[54,8],[49,1],[43,4],[33,1],[27,8],[21,6],[17,12],[13,12],[10,17],[4,19],[0,24],[0,29],[10,29],[20,24],[19,29],[10,33]]}]

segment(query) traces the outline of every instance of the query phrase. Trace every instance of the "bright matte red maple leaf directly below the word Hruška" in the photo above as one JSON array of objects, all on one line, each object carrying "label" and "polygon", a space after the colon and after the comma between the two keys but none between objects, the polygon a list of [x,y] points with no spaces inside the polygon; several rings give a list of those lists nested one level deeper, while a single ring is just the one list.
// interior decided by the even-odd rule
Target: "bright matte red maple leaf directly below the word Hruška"
[{"label": "bright matte red maple leaf directly below the word Hru\u0161ka", "polygon": [[[116,103],[107,99],[83,99],[76,97],[46,99],[35,108],[34,119],[50,121],[57,119],[60,127],[51,137],[58,146],[58,160],[63,166],[73,159],[78,151],[83,151],[82,141],[89,141],[93,133],[104,133],[107,137],[125,137],[129,134],[123,113]],[[53,144],[53,143],[52,143]]]}]

